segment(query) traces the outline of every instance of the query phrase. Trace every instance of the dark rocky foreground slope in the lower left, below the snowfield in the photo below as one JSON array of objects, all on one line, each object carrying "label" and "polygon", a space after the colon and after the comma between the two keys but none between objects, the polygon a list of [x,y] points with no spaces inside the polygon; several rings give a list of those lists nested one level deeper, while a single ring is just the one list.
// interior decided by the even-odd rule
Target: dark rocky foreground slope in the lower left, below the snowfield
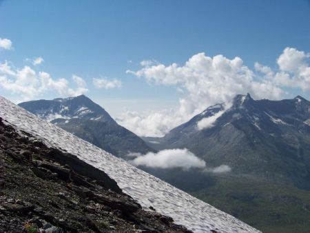
[{"label": "dark rocky foreground slope in the lower left, below the snowfield", "polygon": [[0,232],[190,231],[143,210],[103,171],[0,118]]}]

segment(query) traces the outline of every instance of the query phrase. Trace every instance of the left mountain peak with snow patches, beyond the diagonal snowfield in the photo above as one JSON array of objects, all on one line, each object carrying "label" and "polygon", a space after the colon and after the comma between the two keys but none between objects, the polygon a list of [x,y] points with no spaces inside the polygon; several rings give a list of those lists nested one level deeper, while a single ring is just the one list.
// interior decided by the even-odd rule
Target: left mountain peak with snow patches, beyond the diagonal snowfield
[{"label": "left mountain peak with snow patches, beyond the diagonal snowfield", "polygon": [[116,156],[125,158],[129,152],[154,151],[136,134],[118,125],[100,105],[85,95],[19,105]]}]

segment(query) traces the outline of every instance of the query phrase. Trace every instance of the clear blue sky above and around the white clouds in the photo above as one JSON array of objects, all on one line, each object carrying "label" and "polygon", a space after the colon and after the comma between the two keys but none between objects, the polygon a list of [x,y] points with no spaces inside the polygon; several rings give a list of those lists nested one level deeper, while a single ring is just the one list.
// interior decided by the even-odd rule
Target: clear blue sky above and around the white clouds
[{"label": "clear blue sky above and around the white clouds", "polygon": [[[87,96],[119,117],[123,108],[167,110],[178,107],[180,99],[192,98],[187,84],[163,81],[158,74],[147,77],[147,72],[134,73],[145,68],[140,65],[144,60],[153,61],[152,65],[183,66],[195,54],[205,52],[206,57],[240,57],[251,70],[259,62],[278,72],[278,57],[285,48],[295,48],[304,52],[304,60],[309,62],[310,3],[0,0],[0,38],[12,41],[11,49],[0,50],[1,63],[8,61],[15,70],[28,65],[36,73],[47,72],[54,80],[67,79],[68,88],[76,86],[72,80],[75,74],[85,81]],[[32,65],[30,60],[37,57],[42,57],[43,63]],[[117,79],[121,87],[96,88],[94,78]],[[309,90],[298,85],[280,88],[282,94],[267,97],[310,97]],[[14,101],[25,99],[20,92],[1,86],[0,93]],[[67,95],[47,88],[30,99]],[[216,101],[209,95],[204,98],[209,98],[202,103],[205,108]],[[198,110],[200,107],[192,107],[192,113]]]}]

